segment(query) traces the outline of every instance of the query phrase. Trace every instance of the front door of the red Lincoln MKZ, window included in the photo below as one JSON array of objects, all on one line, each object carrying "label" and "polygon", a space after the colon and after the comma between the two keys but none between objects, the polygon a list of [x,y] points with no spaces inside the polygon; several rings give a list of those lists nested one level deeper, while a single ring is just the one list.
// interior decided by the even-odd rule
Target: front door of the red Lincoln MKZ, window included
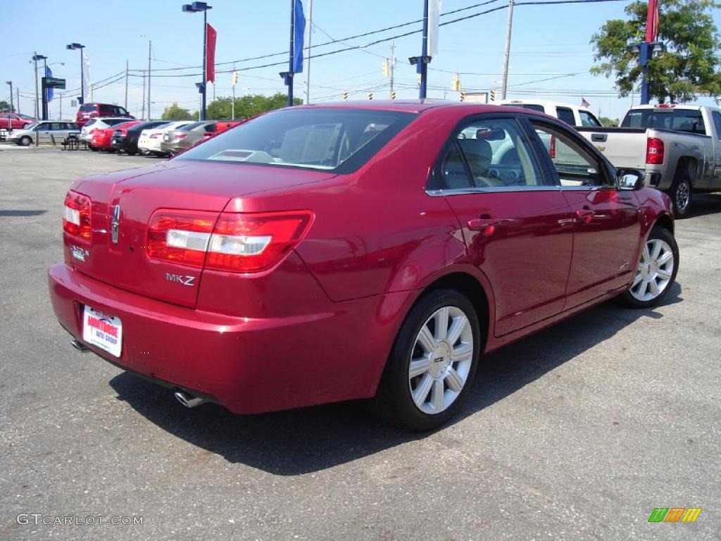
[{"label": "front door of the red Lincoln MKZ, window included", "polygon": [[[640,208],[632,191],[616,180],[588,149],[585,139],[547,120],[531,119],[537,145],[572,211],[573,258],[567,286],[569,309],[628,283],[636,271],[640,247]],[[562,154],[549,155],[552,138]],[[553,147],[552,147],[553,148]]]}]

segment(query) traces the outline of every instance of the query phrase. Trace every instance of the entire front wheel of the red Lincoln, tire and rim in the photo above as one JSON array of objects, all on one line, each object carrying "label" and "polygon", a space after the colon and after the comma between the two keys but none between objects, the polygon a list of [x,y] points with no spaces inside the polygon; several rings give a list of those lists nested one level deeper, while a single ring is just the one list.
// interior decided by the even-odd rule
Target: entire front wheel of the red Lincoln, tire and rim
[{"label": "entire front wheel of the red Lincoln, tire and rim", "polygon": [[678,272],[678,245],[668,229],[651,231],[636,276],[622,300],[634,308],[654,307],[671,291]]}]

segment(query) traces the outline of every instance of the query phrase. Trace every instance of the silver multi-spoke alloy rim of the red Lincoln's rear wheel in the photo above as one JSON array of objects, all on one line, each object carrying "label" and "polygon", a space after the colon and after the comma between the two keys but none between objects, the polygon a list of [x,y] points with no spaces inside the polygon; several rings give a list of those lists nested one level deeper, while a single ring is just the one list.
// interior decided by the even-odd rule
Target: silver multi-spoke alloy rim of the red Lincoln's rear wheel
[{"label": "silver multi-spoke alloy rim of the red Lincoln's rear wheel", "polygon": [[473,361],[473,330],[458,307],[442,307],[420,328],[410,355],[408,385],[415,406],[434,415],[456,401]]}]

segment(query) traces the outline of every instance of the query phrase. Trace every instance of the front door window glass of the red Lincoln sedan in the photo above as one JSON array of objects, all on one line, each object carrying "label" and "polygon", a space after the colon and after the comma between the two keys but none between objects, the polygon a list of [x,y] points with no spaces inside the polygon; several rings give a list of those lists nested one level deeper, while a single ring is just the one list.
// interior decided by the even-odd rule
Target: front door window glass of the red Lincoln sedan
[{"label": "front door window glass of the red Lincoln sedan", "polygon": [[561,188],[611,186],[603,175],[603,164],[567,133],[542,123],[531,123],[551,158]]}]

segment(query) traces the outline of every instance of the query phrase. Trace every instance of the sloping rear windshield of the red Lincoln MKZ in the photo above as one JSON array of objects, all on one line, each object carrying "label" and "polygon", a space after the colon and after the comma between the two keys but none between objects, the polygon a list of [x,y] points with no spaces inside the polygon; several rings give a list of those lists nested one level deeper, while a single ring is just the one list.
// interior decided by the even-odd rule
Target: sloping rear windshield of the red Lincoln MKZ
[{"label": "sloping rear windshield of the red Lincoln MKZ", "polygon": [[350,172],[416,116],[345,107],[284,109],[224,131],[177,159]]}]

